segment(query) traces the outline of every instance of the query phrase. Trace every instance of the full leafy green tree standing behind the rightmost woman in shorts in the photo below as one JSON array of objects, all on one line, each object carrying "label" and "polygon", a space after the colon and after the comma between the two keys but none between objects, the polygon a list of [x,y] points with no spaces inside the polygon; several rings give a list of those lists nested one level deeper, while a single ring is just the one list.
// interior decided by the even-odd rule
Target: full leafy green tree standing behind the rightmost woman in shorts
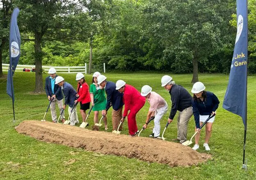
[{"label": "full leafy green tree standing behind the rightmost woman in shorts", "polygon": [[[198,63],[220,50],[224,20],[218,9],[223,4],[208,0],[151,0],[145,8],[146,20],[152,22],[147,33],[164,47],[161,65],[184,69],[192,64],[192,82],[198,81]],[[150,24],[150,25],[151,25]],[[150,52],[150,51],[149,51]],[[171,62],[171,64],[168,64]],[[185,65],[185,66],[184,66]],[[159,68],[159,64],[155,64]]]}]

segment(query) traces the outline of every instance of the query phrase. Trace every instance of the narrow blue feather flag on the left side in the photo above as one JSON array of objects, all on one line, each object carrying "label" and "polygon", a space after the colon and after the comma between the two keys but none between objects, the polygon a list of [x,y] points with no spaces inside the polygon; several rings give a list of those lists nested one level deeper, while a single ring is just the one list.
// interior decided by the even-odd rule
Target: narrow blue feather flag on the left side
[{"label": "narrow blue feather flag on the left side", "polygon": [[10,56],[10,66],[7,76],[7,94],[12,98],[12,103],[14,104],[14,84],[13,75],[20,59],[20,48],[21,48],[21,36],[18,29],[17,17],[20,10],[18,7],[14,8],[11,14],[10,23],[10,34],[9,34],[9,56]]}]

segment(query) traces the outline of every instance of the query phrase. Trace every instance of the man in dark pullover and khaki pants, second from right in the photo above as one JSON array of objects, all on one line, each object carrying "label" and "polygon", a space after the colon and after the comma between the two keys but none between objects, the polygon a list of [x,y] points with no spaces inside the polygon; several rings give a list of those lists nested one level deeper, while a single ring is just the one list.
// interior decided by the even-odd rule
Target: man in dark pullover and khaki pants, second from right
[{"label": "man in dark pullover and khaki pants, second from right", "polygon": [[177,139],[180,143],[187,140],[187,124],[193,114],[192,97],[190,93],[182,86],[175,84],[170,76],[163,76],[161,79],[162,87],[165,87],[171,95],[171,112],[168,122],[171,123],[179,111],[177,120]]}]

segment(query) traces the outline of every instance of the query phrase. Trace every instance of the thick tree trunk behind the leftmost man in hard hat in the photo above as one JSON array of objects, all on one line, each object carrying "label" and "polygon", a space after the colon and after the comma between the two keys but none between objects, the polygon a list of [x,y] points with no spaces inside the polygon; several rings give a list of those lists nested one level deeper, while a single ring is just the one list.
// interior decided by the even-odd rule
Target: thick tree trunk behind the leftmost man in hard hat
[{"label": "thick tree trunk behind the leftmost man in hard hat", "polygon": [[41,51],[42,37],[39,32],[35,31],[35,64],[36,64],[36,85],[34,92],[43,92],[43,69],[42,69],[42,51]]}]

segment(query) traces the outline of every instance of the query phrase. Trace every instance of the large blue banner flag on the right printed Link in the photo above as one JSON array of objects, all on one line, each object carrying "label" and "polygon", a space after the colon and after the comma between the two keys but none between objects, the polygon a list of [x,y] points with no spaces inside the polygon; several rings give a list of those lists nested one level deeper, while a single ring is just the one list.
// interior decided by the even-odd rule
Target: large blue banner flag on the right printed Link
[{"label": "large blue banner flag on the right printed Link", "polygon": [[247,129],[247,1],[237,0],[237,34],[223,108],[242,117]]}]

